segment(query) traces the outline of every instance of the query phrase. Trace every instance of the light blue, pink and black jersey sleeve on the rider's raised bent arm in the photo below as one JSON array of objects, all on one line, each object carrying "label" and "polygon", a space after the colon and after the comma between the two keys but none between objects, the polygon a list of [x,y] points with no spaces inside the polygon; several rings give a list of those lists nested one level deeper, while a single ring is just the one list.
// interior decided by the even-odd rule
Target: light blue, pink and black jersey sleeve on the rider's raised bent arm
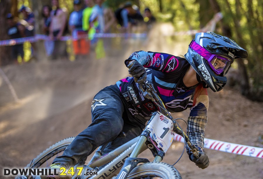
[{"label": "light blue, pink and black jersey sleeve on the rider's raised bent arm", "polygon": [[151,51],[136,51],[125,60],[126,66],[127,61],[135,60],[146,68],[162,71],[164,73],[170,73],[177,71],[180,67],[178,57],[171,54],[151,52]]}]

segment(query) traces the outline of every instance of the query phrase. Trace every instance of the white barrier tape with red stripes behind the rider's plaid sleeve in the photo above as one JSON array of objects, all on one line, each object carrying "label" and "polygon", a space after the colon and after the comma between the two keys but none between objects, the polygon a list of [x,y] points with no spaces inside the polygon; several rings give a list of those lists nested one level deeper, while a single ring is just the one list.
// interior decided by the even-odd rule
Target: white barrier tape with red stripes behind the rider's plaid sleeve
[{"label": "white barrier tape with red stripes behind the rider's plaid sleeve", "polygon": [[[178,142],[184,142],[184,137],[175,134],[174,140]],[[231,154],[245,155],[256,158],[263,158],[263,148],[252,147],[247,145],[234,144],[229,142],[223,142],[219,140],[212,140],[205,138],[205,148],[218,150],[221,152],[228,152]]]}]

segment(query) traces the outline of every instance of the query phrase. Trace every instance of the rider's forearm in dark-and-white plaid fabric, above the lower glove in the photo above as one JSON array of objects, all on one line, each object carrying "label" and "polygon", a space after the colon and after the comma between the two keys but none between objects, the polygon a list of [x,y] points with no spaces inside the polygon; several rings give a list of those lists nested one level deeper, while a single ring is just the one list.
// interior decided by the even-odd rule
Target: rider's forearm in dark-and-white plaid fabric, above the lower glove
[{"label": "rider's forearm in dark-and-white plaid fabric, above the lower glove", "polygon": [[[188,132],[189,139],[192,144],[200,147],[204,151],[205,125],[207,123],[207,116],[189,116],[188,117]],[[188,152],[188,145],[186,145]]]}]

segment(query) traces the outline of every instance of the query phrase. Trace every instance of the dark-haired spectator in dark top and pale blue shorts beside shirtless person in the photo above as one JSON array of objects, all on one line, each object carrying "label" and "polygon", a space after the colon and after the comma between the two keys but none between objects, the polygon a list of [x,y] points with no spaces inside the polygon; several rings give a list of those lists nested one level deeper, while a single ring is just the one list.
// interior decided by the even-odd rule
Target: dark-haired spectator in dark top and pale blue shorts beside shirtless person
[{"label": "dark-haired spectator in dark top and pale blue shorts beside shirtless person", "polygon": [[[42,7],[42,16],[44,17],[44,23],[43,23],[42,31],[45,35],[49,35],[49,27],[51,24],[50,13],[51,13],[51,7],[50,6],[46,5],[46,6]],[[44,46],[46,49],[46,55],[51,56],[51,54],[53,53],[53,49],[54,49],[54,41],[45,40]]]}]

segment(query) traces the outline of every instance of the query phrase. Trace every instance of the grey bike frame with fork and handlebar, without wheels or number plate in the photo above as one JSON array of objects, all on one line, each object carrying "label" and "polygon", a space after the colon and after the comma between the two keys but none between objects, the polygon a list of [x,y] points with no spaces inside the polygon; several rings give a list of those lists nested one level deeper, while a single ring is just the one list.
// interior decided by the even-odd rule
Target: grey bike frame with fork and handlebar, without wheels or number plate
[{"label": "grey bike frame with fork and handlebar, without wheels or number plate", "polygon": [[[191,144],[189,141],[187,135],[177,127],[176,121],[172,118],[172,116],[169,114],[169,112],[165,109],[164,104],[162,103],[161,99],[156,94],[155,89],[153,88],[152,84],[149,84],[147,82],[144,82],[144,88],[140,84],[140,88],[143,89],[144,96],[148,99],[152,99],[152,101],[155,102],[159,106],[160,113],[167,116],[173,121],[174,125],[174,132],[182,135],[185,137],[187,144],[191,148],[192,153],[198,158],[198,152],[196,150],[196,147]],[[154,113],[152,114],[152,117],[150,118],[148,124],[150,121],[154,118]],[[148,125],[147,124],[147,125]],[[146,125],[146,126],[147,126]],[[73,176],[72,179],[75,178],[91,178],[91,179],[107,179],[112,178],[113,176],[117,176],[117,179],[124,179],[127,178],[130,171],[137,166],[138,163],[146,163],[150,162],[148,159],[141,159],[137,158],[141,152],[149,148],[153,155],[155,156],[154,162],[162,161],[165,152],[160,150],[155,142],[150,137],[150,131],[145,128],[140,136],[134,138],[133,140],[123,144],[122,146],[118,147],[117,149],[109,152],[108,154],[103,154],[103,149],[105,148],[106,144],[103,144],[94,154],[91,161],[88,165],[84,165],[84,170],[82,171],[81,176]],[[108,163],[108,164],[107,164]],[[96,171],[95,169],[98,169],[98,167],[101,167],[103,165],[107,164],[103,168],[97,171],[97,175],[91,176],[91,175],[85,175],[86,172],[89,171]]]}]

